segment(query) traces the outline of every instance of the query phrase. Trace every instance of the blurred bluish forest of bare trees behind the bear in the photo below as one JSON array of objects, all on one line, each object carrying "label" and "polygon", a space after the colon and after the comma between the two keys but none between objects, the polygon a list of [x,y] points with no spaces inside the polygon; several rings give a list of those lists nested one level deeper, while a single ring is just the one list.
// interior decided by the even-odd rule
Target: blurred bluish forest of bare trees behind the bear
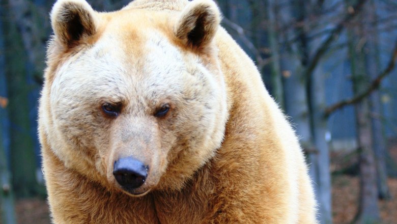
[{"label": "blurred bluish forest of bare trees behind the bear", "polygon": [[[128,0],[88,0],[97,11]],[[49,223],[37,107],[54,1],[0,0],[1,223]],[[321,223],[397,223],[397,1],[218,0],[310,164]],[[258,115],[260,116],[260,115]]]}]

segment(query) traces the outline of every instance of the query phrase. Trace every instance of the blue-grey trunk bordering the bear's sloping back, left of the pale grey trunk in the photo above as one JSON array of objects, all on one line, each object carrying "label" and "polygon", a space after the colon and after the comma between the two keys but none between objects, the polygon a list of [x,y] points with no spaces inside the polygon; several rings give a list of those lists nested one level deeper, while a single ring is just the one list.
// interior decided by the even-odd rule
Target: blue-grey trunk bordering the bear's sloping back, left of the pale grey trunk
[{"label": "blue-grey trunk bordering the bear's sloping back, left of the pale grey trunk", "polygon": [[[294,20],[291,16],[294,13],[293,8],[294,4],[287,4],[280,8],[280,11],[276,14],[279,26],[287,27],[291,24],[291,21]],[[309,174],[313,180],[316,197],[318,197],[318,151],[315,149],[311,134],[306,76],[302,73],[304,70],[302,62],[304,55],[302,55],[301,46],[298,42],[288,43],[288,40],[292,39],[293,36],[297,36],[297,33],[300,32],[302,32],[300,29],[288,29],[278,33],[278,39],[281,42],[279,60],[286,113],[291,117],[291,122],[296,127],[296,134],[300,137],[301,147],[307,155]],[[318,198],[317,201],[319,201]],[[320,207],[322,204],[320,204]]]}]

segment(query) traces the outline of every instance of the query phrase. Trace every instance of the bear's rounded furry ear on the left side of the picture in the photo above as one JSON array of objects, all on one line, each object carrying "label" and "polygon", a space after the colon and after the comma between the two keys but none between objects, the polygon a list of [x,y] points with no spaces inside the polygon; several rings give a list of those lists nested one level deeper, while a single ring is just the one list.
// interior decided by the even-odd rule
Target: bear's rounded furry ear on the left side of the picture
[{"label": "bear's rounded furry ear on the left side of the picture", "polygon": [[55,39],[66,48],[96,32],[95,11],[84,0],[58,0],[51,11]]}]

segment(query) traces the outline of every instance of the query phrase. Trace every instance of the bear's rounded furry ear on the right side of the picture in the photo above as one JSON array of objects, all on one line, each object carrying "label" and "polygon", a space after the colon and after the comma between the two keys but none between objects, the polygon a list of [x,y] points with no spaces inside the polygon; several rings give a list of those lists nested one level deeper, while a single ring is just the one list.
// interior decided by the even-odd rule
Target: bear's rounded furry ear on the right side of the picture
[{"label": "bear's rounded furry ear on the right side of the picture", "polygon": [[175,25],[175,35],[189,47],[200,49],[211,43],[220,23],[220,12],[211,0],[193,0]]}]

